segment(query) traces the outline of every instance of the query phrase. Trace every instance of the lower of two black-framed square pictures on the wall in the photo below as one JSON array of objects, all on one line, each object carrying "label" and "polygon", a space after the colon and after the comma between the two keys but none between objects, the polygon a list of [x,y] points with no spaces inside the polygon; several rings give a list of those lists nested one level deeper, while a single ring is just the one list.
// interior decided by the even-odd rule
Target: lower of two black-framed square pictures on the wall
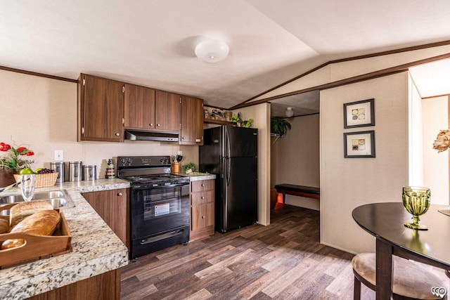
[{"label": "lower of two black-framed square pictures on the wall", "polygon": [[344,158],[375,157],[375,131],[344,133]]}]

